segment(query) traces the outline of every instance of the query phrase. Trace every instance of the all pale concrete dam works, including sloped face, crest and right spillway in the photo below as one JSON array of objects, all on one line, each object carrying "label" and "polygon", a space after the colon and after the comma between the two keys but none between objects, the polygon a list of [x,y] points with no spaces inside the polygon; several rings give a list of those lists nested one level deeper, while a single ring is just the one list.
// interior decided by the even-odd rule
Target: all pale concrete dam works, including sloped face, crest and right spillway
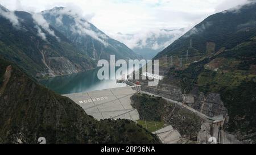
[{"label": "all pale concrete dam works, including sloped face, crest and right spillway", "polygon": [[[126,83],[129,81],[126,81]],[[113,89],[89,91],[85,93],[65,94],[63,96],[72,99],[75,103],[81,106],[86,114],[93,116],[97,120],[102,119],[127,119],[137,122],[139,120],[138,111],[131,106],[131,96],[135,93],[144,93],[148,95],[158,96],[156,94],[144,91],[140,85],[136,86],[135,83],[126,87],[118,87]],[[151,92],[151,91],[150,91]],[[210,118],[202,114],[182,102],[162,97],[169,102],[175,103],[177,106],[186,108],[204,120],[201,124],[201,131],[197,136],[198,143],[209,143],[210,137],[216,138],[216,143],[239,143],[233,135],[225,133],[222,129],[225,119],[223,116],[218,118]],[[167,125],[167,126],[166,126]],[[166,124],[164,128],[155,131],[154,134],[158,135],[159,139],[164,144],[177,143],[182,140],[179,131],[175,130],[171,123]]]}]

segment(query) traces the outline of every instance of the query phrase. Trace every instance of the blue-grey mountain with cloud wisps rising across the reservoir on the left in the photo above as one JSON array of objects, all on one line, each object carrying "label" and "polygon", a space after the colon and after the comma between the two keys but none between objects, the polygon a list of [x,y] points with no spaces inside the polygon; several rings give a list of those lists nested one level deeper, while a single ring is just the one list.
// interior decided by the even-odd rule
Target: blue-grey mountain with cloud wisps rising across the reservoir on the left
[{"label": "blue-grey mountain with cloud wisps rising across the reservoir on the left", "polygon": [[33,14],[9,11],[3,6],[0,9],[0,55],[30,76],[47,78],[83,72],[96,68],[100,59],[109,60],[110,55],[125,60],[140,58],[77,14],[64,14],[65,8]]}]

